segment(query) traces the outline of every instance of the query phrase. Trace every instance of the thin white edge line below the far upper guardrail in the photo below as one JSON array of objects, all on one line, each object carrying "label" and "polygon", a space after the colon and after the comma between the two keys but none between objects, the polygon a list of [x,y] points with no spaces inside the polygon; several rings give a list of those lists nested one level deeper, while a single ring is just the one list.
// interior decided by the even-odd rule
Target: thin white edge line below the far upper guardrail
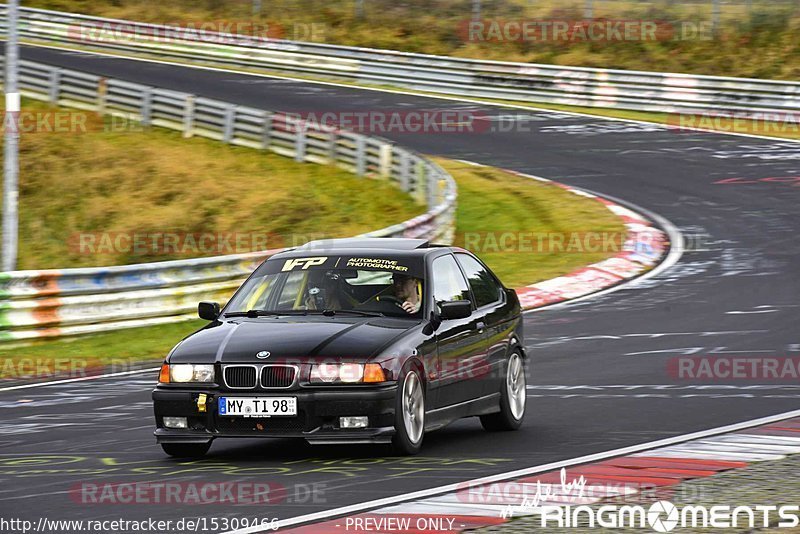
[{"label": "thin white edge line below the far upper guardrail", "polygon": [[[414,91],[402,91],[400,89],[387,89],[381,87],[370,87],[368,85],[358,85],[358,84],[347,84],[347,83],[337,83],[337,82],[328,82],[322,80],[309,80],[305,78],[295,78],[292,76],[281,76],[279,74],[262,74],[257,72],[248,72],[238,70],[236,68],[223,68],[223,67],[209,67],[206,65],[193,65],[190,63],[181,63],[179,61],[167,61],[163,59],[147,59],[147,58],[139,58],[139,57],[132,57],[132,56],[125,56],[125,55],[118,55],[118,54],[111,54],[108,52],[90,52],[87,50],[80,50],[76,48],[68,48],[63,46],[56,46],[56,45],[45,45],[45,44],[33,44],[33,43],[22,43],[24,46],[31,46],[37,48],[50,48],[53,50],[61,50],[64,52],[72,52],[75,54],[84,54],[84,55],[93,55],[93,56],[102,56],[102,57],[111,57],[115,59],[127,59],[130,61],[143,61],[145,63],[156,63],[160,65],[174,65],[177,67],[185,67],[187,69],[197,69],[197,70],[208,70],[212,72],[227,72],[231,74],[242,74],[245,76],[255,76],[257,78],[273,78],[277,80],[289,80],[293,82],[301,82],[301,83],[311,83],[316,85],[330,85],[333,87],[346,87],[349,89],[361,89],[364,91],[378,91],[381,93],[392,93],[396,95],[406,95],[406,96],[416,96],[420,98],[432,98],[436,100],[449,100],[453,102],[464,102],[468,104],[479,104],[481,106],[490,106],[490,107],[497,107],[497,108],[506,108],[506,109],[519,109],[525,111],[545,111],[550,113],[560,113],[562,115],[573,115],[576,117],[591,117],[594,119],[601,119],[601,120],[609,120],[609,121],[616,121],[616,122],[627,122],[632,124],[647,124],[650,126],[660,126],[664,128],[664,130],[669,130],[669,126],[659,122],[650,122],[650,121],[643,121],[643,120],[636,120],[636,119],[623,119],[620,117],[606,117],[605,115],[593,115],[592,113],[585,113],[580,111],[562,111],[559,109],[551,109],[551,108],[540,108],[536,106],[521,106],[515,104],[500,104],[498,102],[486,102],[483,100],[475,100],[472,98],[461,98],[456,96],[448,96],[448,95],[432,95],[426,93],[415,93]],[[609,108],[598,108],[598,109],[609,109]],[[616,109],[616,108],[610,108]],[[619,111],[632,111],[632,110],[625,110],[620,109]],[[716,130],[706,130],[704,128],[694,128],[689,126],[681,126],[681,130],[690,130],[694,132],[700,133],[710,133],[716,135],[734,135],[737,137],[749,137],[753,139],[766,139],[768,141],[781,141],[787,143],[800,143],[800,139],[790,139],[785,137],[769,137],[766,135],[756,135],[756,134],[746,134],[746,133],[738,133],[738,132],[718,132]]]}]

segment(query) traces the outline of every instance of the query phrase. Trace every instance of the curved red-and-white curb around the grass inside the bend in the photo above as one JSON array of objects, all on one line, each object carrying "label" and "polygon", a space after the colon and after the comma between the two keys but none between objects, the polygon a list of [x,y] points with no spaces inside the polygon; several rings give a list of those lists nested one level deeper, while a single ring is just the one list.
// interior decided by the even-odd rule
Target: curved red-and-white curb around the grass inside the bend
[{"label": "curved red-and-white curb around the grass inside the bend", "polygon": [[[671,249],[671,241],[680,241],[674,237],[671,239],[666,231],[657,228],[649,218],[616,202],[547,178],[504,170],[524,178],[550,183],[585,198],[595,199],[619,217],[627,230],[622,249],[614,257],[593,263],[564,276],[517,288],[517,295],[524,310],[575,300],[616,286],[626,280],[637,278],[653,269],[664,258],[667,251]],[[677,229],[671,228],[671,230],[680,238]],[[672,255],[671,264],[674,264],[680,257],[682,247],[673,246],[672,250],[678,252],[677,257],[675,254]]]}]

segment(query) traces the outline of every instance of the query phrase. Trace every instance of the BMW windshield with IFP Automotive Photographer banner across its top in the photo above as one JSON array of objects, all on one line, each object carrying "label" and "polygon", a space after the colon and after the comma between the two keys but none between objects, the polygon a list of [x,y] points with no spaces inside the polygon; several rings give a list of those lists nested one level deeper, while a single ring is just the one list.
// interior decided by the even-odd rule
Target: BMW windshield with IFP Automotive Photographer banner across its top
[{"label": "BMW windshield with IFP Automotive Photographer banner across its top", "polygon": [[268,260],[225,308],[296,313],[422,316],[425,284],[416,258],[318,256]]}]

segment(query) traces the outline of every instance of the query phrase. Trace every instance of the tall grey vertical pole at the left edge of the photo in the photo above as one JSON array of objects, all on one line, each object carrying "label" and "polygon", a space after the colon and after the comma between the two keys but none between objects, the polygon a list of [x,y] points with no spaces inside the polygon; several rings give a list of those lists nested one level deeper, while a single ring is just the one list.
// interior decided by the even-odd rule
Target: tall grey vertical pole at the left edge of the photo
[{"label": "tall grey vertical pole at the left edge of the photo", "polygon": [[[6,3],[6,120],[3,150],[3,271],[17,267],[17,239],[19,234],[19,111],[20,97],[17,88],[19,45],[17,42],[19,0]],[[13,126],[9,127],[11,117]]]}]

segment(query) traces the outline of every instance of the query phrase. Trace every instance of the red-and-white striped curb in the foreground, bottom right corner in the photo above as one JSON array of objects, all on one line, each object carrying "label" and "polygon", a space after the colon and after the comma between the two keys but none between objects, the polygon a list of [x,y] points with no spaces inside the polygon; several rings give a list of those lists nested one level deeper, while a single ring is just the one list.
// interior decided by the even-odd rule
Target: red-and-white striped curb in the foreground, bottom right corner
[{"label": "red-and-white striped curb in the foreground, bottom right corner", "polygon": [[[583,477],[586,485],[580,496],[575,491],[565,490],[561,469],[554,468],[535,475],[499,479],[486,484],[465,482],[447,493],[319,523],[301,524],[282,531],[303,534],[462,532],[504,524],[509,521],[504,517],[509,509],[517,517],[537,514],[535,508],[521,507],[520,504],[526,499],[530,502],[542,486],[553,491],[546,502],[542,502],[543,505],[594,504],[642,492],[655,492],[655,495],[663,498],[665,492],[669,495],[670,490],[675,490],[687,480],[732,469],[746,469],[757,462],[800,454],[800,412],[782,414],[786,415],[793,417],[783,420],[764,418],[770,422],[725,434],[714,434],[714,430],[699,432],[696,433],[699,437],[689,441],[572,464],[566,468],[566,480],[569,484]],[[717,430],[746,425],[731,425]],[[568,465],[567,462],[564,464]],[[559,466],[554,464],[554,467]]]}]

